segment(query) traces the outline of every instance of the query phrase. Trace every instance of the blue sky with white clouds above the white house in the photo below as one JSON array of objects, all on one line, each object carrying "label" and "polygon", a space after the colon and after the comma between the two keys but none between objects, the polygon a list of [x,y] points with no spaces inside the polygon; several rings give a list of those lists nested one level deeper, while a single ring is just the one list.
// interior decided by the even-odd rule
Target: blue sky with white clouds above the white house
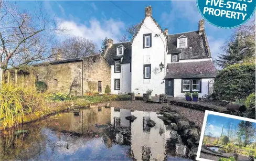
[{"label": "blue sky with white clouds above the white house", "polygon": [[[33,9],[41,4],[47,13],[55,16],[69,29],[68,36],[81,36],[94,41],[98,48],[104,37],[114,43],[125,34],[125,28],[140,23],[144,8],[152,6],[153,17],[169,34],[198,30],[202,19],[196,1],[20,1],[20,8]],[[125,12],[123,12],[124,10]],[[128,13],[128,14],[127,14]],[[212,57],[221,53],[220,47],[228,40],[232,29],[220,29],[206,22]],[[63,36],[59,37],[63,39]]]}]

